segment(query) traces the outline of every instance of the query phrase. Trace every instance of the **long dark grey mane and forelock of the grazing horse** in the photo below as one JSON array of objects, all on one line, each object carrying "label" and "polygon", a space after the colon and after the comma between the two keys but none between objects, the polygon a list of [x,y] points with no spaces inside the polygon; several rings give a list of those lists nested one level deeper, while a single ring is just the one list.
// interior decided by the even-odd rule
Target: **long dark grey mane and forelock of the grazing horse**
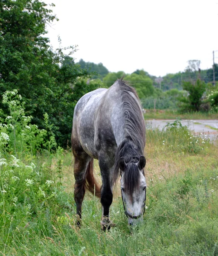
[{"label": "long dark grey mane and forelock of the grazing horse", "polygon": [[124,157],[125,163],[125,187],[129,195],[139,183],[138,168],[133,163],[133,157],[140,157],[145,147],[145,121],[142,115],[142,105],[136,90],[124,81],[118,80],[122,91],[122,111],[124,115],[125,139],[120,143],[114,157],[113,182],[116,183],[120,175],[119,161]]}]

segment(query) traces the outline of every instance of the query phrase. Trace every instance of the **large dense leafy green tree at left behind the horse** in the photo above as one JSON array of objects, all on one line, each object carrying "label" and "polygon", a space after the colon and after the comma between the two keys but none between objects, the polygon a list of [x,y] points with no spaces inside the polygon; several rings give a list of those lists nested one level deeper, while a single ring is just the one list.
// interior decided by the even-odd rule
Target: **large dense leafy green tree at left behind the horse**
[{"label": "large dense leafy green tree at left behind the horse", "polygon": [[[45,128],[48,113],[59,145],[70,139],[73,108],[78,99],[99,86],[80,80],[89,74],[62,49],[53,51],[45,35],[47,23],[55,20],[40,0],[0,2],[0,95],[17,89],[32,123]],[[5,106],[0,103],[6,113]]]}]

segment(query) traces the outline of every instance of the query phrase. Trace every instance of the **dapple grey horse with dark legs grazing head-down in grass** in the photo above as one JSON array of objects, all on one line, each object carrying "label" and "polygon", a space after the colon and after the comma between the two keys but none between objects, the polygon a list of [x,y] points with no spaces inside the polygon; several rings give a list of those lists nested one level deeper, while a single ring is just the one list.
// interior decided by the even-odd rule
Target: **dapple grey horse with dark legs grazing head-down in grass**
[{"label": "dapple grey horse with dark legs grazing head-down in grass", "polygon": [[[71,135],[74,155],[74,199],[77,225],[85,189],[101,198],[103,230],[113,226],[110,205],[113,185],[121,176],[121,194],[128,224],[142,221],[145,211],[145,120],[136,90],[122,79],[111,87],[93,90],[78,100]],[[99,162],[102,186],[93,175]]]}]

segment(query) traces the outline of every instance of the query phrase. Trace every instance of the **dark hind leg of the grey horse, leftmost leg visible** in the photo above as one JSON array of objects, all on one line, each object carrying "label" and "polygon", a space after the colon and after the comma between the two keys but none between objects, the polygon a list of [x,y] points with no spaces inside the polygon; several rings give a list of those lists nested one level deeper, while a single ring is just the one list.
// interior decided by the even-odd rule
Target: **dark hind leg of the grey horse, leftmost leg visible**
[{"label": "dark hind leg of the grey horse, leftmost leg visible", "polygon": [[81,225],[81,207],[85,195],[86,170],[91,157],[84,152],[80,157],[75,156],[74,160],[74,200],[76,202],[77,226]]}]

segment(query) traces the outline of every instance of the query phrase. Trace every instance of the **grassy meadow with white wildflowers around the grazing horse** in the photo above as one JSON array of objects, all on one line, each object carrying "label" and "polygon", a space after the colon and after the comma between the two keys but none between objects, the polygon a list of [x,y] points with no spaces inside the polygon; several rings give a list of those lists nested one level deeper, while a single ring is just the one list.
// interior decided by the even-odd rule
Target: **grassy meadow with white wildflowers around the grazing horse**
[{"label": "grassy meadow with white wildflowers around the grazing horse", "polygon": [[[11,114],[0,125],[0,255],[218,256],[218,147],[206,134],[178,120],[147,129],[144,221],[128,226],[118,184],[116,226],[101,231],[101,204],[87,192],[78,229],[72,152],[57,147],[49,127],[30,124],[19,97],[5,94]],[[97,161],[95,172],[100,183]]]}]

